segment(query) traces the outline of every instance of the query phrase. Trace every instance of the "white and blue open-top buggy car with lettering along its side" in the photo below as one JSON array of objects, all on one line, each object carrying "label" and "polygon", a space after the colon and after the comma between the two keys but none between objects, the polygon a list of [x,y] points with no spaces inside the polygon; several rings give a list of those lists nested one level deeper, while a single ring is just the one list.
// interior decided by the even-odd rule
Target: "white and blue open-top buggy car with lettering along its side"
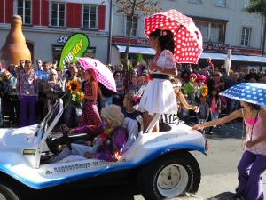
[{"label": "white and blue open-top buggy car with lettering along its side", "polygon": [[20,186],[37,190],[90,181],[92,177],[95,180],[113,172],[128,174],[127,178],[130,174],[130,180],[136,180],[141,194],[149,200],[197,192],[200,166],[189,151],[206,152],[207,142],[200,132],[180,123],[161,124],[160,132],[155,134],[143,133],[137,131],[134,120],[129,120],[125,123],[129,133],[127,150],[118,162],[68,156],[51,164],[49,158],[57,154],[56,141],[64,139],[69,147],[82,136],[55,133],[63,110],[63,101],[59,100],[41,124],[0,129],[0,200],[22,199]]}]

